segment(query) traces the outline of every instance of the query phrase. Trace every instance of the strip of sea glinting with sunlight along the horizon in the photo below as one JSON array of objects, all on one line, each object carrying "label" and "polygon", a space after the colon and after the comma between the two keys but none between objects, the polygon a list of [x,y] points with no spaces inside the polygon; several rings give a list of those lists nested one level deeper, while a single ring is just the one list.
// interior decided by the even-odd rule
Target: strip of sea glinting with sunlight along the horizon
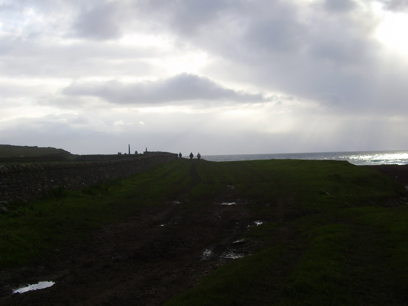
[{"label": "strip of sea glinting with sunlight along the horizon", "polygon": [[297,160],[336,160],[348,161],[358,166],[367,165],[407,165],[408,150],[400,151],[355,151],[355,152],[317,152],[285,154],[241,154],[241,155],[207,155],[202,159],[214,162],[297,159]]}]

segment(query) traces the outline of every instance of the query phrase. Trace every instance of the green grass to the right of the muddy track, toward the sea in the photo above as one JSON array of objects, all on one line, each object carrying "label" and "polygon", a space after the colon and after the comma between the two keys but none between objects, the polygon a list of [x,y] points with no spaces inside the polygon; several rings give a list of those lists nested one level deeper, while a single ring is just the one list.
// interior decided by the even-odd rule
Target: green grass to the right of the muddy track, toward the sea
[{"label": "green grass to the right of the muddy track, toward the sea", "polygon": [[[218,269],[167,305],[406,305],[408,205],[389,206],[406,195],[399,183],[334,161],[211,167],[275,222],[243,234],[267,242],[263,251]],[[271,203],[270,212],[257,201]]]}]

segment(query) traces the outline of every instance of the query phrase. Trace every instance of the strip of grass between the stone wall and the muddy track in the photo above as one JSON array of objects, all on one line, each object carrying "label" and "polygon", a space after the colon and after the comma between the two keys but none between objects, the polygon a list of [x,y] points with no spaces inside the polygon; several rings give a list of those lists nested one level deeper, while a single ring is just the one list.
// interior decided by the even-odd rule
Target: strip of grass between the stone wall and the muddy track
[{"label": "strip of grass between the stone wall and the muddy track", "polygon": [[146,209],[160,209],[189,187],[188,167],[168,163],[127,179],[66,192],[0,210],[0,268],[27,264],[81,240],[98,226]]}]

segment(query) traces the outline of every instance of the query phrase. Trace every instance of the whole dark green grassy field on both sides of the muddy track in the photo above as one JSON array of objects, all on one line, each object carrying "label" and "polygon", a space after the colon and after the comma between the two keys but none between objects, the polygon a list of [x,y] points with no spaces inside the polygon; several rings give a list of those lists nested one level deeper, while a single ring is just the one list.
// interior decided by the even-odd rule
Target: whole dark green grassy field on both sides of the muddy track
[{"label": "whole dark green grassy field on both sides of the muddy track", "polygon": [[0,268],[27,264],[181,194],[186,211],[194,211],[231,186],[265,221],[242,238],[265,247],[218,268],[168,306],[408,304],[406,191],[373,169],[338,161],[177,160],[109,184],[13,203],[0,211]]}]

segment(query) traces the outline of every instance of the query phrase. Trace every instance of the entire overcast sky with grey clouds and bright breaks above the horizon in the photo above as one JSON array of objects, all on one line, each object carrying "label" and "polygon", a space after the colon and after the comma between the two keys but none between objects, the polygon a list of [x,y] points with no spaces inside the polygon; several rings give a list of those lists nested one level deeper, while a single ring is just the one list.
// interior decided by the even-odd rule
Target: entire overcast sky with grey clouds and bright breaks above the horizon
[{"label": "entire overcast sky with grey clouds and bright breaks above the horizon", "polygon": [[405,0],[0,0],[0,143],[408,149]]}]

